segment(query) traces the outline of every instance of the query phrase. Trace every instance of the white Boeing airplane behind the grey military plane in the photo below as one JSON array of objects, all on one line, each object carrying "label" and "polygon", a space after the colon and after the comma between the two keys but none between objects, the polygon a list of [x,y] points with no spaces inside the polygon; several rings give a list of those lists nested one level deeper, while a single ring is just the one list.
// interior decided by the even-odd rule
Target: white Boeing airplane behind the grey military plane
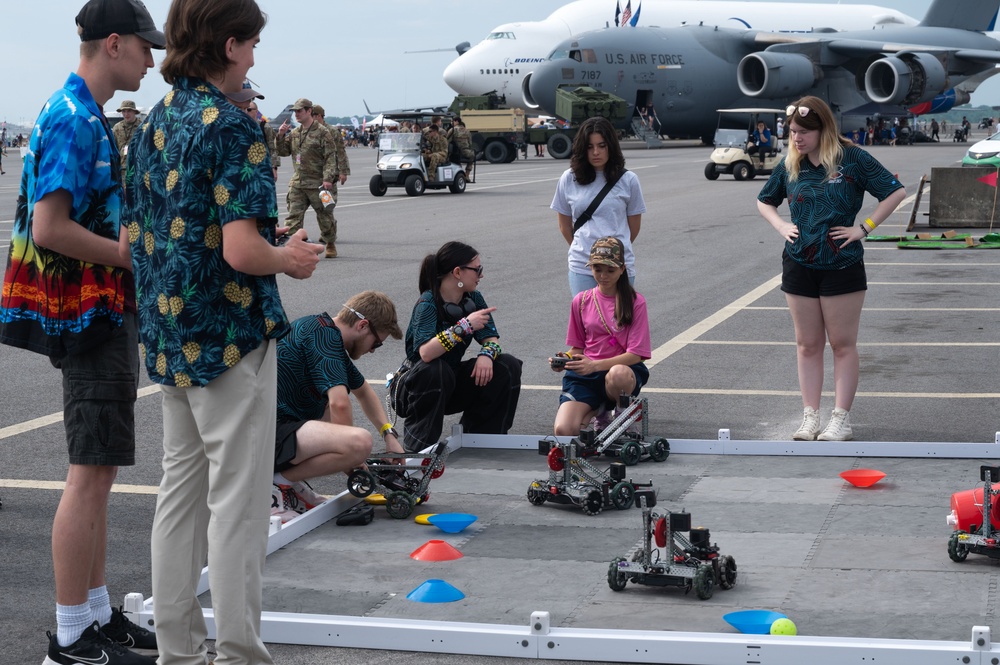
[{"label": "white Boeing airplane behind the grey military plane", "polygon": [[[616,12],[616,10],[618,10]],[[544,62],[559,42],[606,26],[721,26],[777,32],[871,30],[912,26],[917,20],[886,7],[802,2],[723,0],[577,0],[544,21],[497,26],[472,48],[456,47],[459,57],[444,71],[444,81],[459,94],[496,91],[508,106],[525,108],[523,79]],[[467,49],[463,53],[463,48]]]}]

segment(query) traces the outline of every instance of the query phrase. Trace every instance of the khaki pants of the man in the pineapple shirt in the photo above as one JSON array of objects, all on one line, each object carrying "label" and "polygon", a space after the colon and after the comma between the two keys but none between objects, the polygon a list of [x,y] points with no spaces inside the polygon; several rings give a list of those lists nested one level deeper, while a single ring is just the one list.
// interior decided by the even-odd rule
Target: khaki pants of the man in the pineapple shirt
[{"label": "khaki pants of the man in the pineapple shirt", "polygon": [[270,519],[277,356],[264,341],[204,388],[163,386],[163,479],[151,539],[161,665],[205,665],[202,566],[216,661],[273,663],[260,639]]}]

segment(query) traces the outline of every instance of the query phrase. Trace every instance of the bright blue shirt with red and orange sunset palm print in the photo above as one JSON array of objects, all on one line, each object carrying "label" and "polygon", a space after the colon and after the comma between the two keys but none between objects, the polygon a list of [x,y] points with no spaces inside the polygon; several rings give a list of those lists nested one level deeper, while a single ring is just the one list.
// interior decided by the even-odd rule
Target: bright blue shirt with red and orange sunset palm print
[{"label": "bright blue shirt with red and orange sunset palm print", "polygon": [[[63,190],[70,218],[118,240],[118,146],[86,82],[70,74],[45,103],[31,132],[21,173],[7,269],[0,295],[0,341],[52,358],[103,342],[135,311],[132,275],[35,244],[35,203]],[[92,325],[100,323],[101,325]]]}]

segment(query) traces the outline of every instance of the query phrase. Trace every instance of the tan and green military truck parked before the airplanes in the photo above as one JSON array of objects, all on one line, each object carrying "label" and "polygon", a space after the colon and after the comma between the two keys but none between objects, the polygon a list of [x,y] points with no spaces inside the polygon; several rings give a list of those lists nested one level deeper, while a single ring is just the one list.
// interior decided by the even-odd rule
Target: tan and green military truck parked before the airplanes
[{"label": "tan and green military truck parked before the airplanes", "polygon": [[559,88],[556,91],[556,116],[567,128],[527,127],[522,109],[502,108],[503,98],[490,92],[485,95],[458,95],[448,110],[465,122],[472,135],[477,158],[481,155],[492,164],[517,159],[518,150],[529,145],[544,145],[556,159],[568,159],[573,148],[576,127],[587,118],[602,116],[618,125],[626,119],[628,104],[621,97],[587,86]]}]

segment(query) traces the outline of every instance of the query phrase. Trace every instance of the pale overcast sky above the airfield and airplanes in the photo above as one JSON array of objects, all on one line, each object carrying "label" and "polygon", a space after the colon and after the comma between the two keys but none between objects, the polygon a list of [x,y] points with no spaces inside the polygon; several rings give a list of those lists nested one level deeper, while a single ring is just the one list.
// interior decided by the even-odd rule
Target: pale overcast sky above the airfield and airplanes
[{"label": "pale overcast sky above the airfield and airplanes", "polygon": [[[296,98],[308,97],[335,116],[364,113],[362,100],[372,110],[448,102],[454,93],[442,74],[457,57],[456,44],[475,44],[502,23],[542,20],[566,4],[566,0],[258,2],[268,14],[268,24],[250,78],[266,96],[261,110],[274,115]],[[170,0],[145,3],[162,26]],[[613,8],[614,0],[608,3]],[[83,4],[83,0],[4,0],[0,62],[7,80],[0,118],[33,123],[44,101],[76,70],[80,42],[73,19]],[[921,18],[930,0],[870,0],[868,4]],[[451,50],[404,55],[404,51],[435,48]],[[162,51],[154,51],[153,57],[158,67]],[[149,107],[167,90],[154,68],[138,92],[119,93],[107,109],[116,109],[125,98]],[[972,103],[1000,104],[1000,81],[985,83]]]}]

